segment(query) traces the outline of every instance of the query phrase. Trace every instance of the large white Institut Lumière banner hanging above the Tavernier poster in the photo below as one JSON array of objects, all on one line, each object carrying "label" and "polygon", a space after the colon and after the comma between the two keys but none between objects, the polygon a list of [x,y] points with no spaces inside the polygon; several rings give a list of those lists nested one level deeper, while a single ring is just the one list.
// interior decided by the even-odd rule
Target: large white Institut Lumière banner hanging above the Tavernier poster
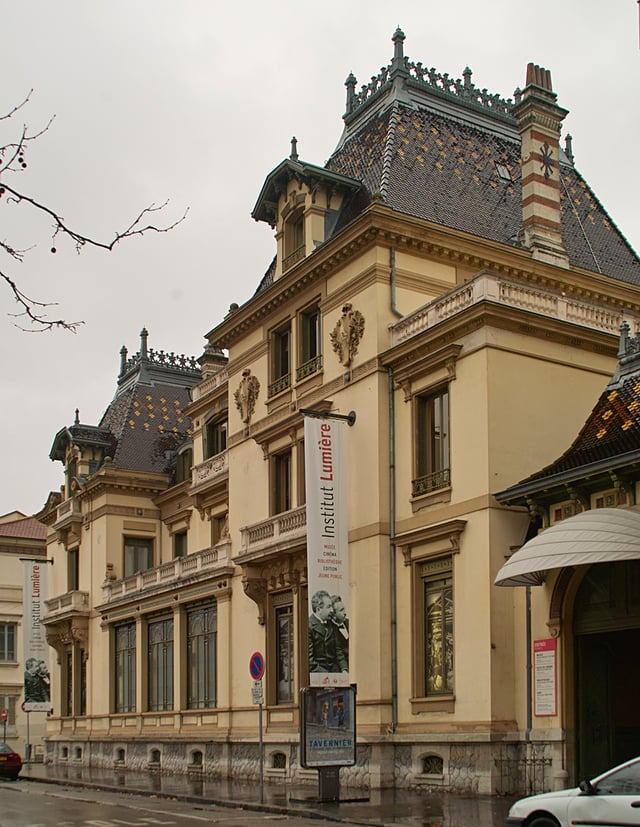
[{"label": "large white Institut Lumi\u00e8re banner hanging above the Tavernier poster", "polygon": [[309,682],[349,686],[349,549],[345,424],[304,420]]}]

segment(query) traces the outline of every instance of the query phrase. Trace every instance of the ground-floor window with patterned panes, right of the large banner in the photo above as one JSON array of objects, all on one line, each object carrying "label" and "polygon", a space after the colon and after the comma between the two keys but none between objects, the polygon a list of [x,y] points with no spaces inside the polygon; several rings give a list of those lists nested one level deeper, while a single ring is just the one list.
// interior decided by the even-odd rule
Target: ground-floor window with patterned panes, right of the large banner
[{"label": "ground-floor window with patterned panes, right of the large banner", "polygon": [[453,693],[453,580],[434,569],[423,569],[425,696]]}]

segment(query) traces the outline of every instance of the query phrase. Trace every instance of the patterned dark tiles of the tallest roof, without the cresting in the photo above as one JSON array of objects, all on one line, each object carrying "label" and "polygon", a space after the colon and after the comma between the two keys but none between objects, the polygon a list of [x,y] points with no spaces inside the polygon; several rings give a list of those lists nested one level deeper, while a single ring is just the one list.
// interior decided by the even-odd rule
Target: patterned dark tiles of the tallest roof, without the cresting
[{"label": "patterned dark tiles of the tallest roof, without the cresting", "polygon": [[[394,112],[373,114],[327,168],[362,181],[370,196],[382,195],[399,212],[516,246],[522,189],[515,129],[509,138],[505,130],[495,133],[398,102]],[[589,185],[568,161],[561,175],[562,232],[571,263],[640,284],[640,260]]]}]

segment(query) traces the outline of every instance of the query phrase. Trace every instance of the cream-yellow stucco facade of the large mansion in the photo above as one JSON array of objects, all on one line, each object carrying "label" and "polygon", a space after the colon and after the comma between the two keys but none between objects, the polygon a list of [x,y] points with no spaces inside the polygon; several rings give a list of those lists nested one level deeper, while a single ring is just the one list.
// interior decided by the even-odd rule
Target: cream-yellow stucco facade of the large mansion
[{"label": "cream-yellow stucco facade of the large mansion", "polygon": [[[536,134],[520,126],[529,152]],[[524,593],[493,583],[530,515],[494,494],[571,442],[613,373],[620,324],[640,318],[640,286],[570,264],[555,225],[546,254],[374,194],[336,230],[358,186],[293,152],[267,178],[254,217],[273,226],[271,279],[207,333],[173,471],[123,468],[106,442],[96,447],[98,429],[84,442],[73,429],[59,436],[56,458],[68,469],[73,456],[75,476],[42,515],[56,561],[50,760],[255,778],[257,651],[266,772],[315,779],[299,755],[309,675],[301,409],[354,411],[344,507],[358,760],[343,782],[523,786]],[[539,219],[537,238],[551,209],[535,210],[544,186],[524,211]],[[81,467],[89,445],[96,466]],[[71,552],[74,588],[58,564]],[[552,590],[533,595],[536,639],[550,636]],[[565,658],[560,647],[561,699]],[[571,714],[563,702],[535,720],[547,786],[572,772]]]}]

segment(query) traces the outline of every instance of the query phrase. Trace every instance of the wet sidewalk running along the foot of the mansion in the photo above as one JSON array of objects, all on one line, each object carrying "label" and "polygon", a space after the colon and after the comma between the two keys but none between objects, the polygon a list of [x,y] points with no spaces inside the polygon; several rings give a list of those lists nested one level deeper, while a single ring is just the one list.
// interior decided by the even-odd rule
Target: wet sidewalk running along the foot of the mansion
[{"label": "wet sidewalk running along the foot of the mansion", "polygon": [[315,786],[269,782],[259,784],[212,781],[184,775],[27,764],[23,780],[83,788],[163,796],[184,801],[244,807],[372,827],[503,827],[513,799],[417,793],[405,790],[341,790],[337,803],[317,800]]}]

